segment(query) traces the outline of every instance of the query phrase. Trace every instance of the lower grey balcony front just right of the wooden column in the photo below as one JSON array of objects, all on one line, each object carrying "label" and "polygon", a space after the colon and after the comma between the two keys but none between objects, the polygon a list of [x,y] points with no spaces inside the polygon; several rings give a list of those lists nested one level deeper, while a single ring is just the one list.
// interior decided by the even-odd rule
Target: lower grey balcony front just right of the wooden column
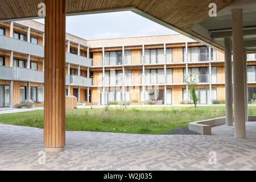
[{"label": "lower grey balcony front just right of the wooden column", "polygon": [[66,85],[90,87],[92,86],[92,78],[76,75],[66,75]]}]

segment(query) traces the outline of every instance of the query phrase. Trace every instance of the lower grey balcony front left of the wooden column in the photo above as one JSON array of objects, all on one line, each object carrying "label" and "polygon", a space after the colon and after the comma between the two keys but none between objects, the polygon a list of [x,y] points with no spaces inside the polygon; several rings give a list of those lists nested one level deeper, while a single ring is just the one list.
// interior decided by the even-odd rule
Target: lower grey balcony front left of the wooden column
[{"label": "lower grey balcony front left of the wooden column", "polygon": [[14,67],[13,71],[13,80],[44,83],[44,72],[19,67]]}]

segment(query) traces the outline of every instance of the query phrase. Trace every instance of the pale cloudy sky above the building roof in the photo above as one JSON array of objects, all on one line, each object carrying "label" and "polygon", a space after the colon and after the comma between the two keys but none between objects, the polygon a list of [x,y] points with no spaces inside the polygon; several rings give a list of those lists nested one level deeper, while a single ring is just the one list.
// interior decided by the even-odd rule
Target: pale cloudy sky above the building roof
[{"label": "pale cloudy sky above the building roof", "polygon": [[86,40],[177,34],[131,11],[67,16],[67,32]]}]

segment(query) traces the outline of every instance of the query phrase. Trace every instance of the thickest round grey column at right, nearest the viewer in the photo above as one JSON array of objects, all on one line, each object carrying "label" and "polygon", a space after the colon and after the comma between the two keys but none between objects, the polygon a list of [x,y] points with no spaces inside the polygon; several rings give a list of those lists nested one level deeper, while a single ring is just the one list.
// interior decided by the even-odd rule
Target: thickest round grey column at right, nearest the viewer
[{"label": "thickest round grey column at right, nearest the viewer", "polygon": [[242,9],[232,10],[235,137],[245,138],[245,75]]}]

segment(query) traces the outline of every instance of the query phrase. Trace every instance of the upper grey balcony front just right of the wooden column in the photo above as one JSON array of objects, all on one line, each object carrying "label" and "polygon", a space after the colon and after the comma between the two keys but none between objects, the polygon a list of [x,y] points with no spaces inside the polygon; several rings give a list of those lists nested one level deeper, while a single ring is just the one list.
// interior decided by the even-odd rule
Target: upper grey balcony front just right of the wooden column
[{"label": "upper grey balcony front just right of the wooden column", "polygon": [[92,67],[92,59],[67,52],[66,63],[81,65],[82,67]]}]

